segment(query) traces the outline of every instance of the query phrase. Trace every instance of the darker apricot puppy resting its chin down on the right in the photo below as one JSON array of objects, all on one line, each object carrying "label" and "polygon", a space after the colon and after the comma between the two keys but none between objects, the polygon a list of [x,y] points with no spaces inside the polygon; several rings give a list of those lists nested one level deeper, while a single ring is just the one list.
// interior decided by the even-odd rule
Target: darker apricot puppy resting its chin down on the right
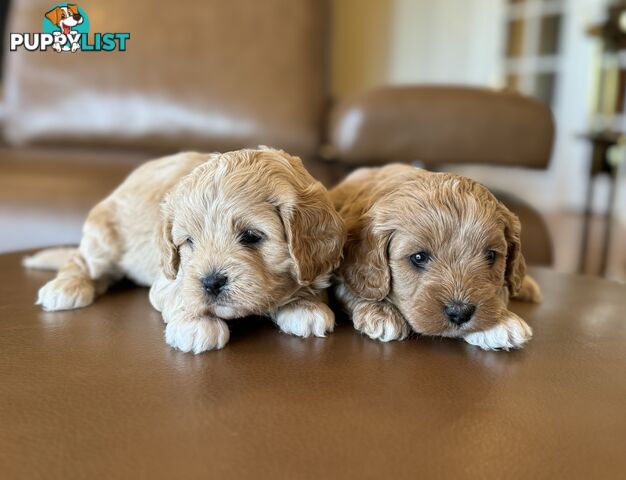
[{"label": "darker apricot puppy resting its chin down on the right", "polygon": [[337,295],[357,330],[381,340],[459,337],[519,348],[531,328],[510,296],[539,301],[520,223],[482,185],[407,165],[364,168],[331,191],[348,240]]}]

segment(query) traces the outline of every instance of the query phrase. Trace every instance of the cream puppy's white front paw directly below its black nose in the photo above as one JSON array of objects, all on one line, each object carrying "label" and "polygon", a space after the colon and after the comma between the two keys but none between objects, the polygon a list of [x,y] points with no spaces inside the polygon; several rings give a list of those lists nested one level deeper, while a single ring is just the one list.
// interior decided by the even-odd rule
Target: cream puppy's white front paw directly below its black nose
[{"label": "cream puppy's white front paw directly below its black nose", "polygon": [[165,327],[165,341],[183,352],[219,350],[228,343],[228,325],[218,318],[171,321]]}]

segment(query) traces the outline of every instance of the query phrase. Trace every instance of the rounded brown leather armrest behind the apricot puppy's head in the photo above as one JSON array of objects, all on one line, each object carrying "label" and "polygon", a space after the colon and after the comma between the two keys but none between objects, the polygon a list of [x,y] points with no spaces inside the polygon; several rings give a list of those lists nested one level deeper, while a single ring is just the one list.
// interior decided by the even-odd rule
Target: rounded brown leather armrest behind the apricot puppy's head
[{"label": "rounded brown leather armrest behind the apricot puppy's head", "polygon": [[334,155],[354,164],[421,161],[544,168],[554,125],[543,104],[515,93],[384,87],[346,98],[328,127]]}]

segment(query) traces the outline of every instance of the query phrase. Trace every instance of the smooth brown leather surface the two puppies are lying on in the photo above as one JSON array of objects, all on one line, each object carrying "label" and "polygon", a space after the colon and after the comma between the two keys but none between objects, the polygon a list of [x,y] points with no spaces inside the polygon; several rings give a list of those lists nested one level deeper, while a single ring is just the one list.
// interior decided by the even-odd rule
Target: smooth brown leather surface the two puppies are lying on
[{"label": "smooth brown leather surface the two puppies are lying on", "polygon": [[516,352],[251,319],[193,356],[142,289],[41,312],[51,275],[19,259],[0,256],[3,479],[623,478],[624,286],[532,270]]}]

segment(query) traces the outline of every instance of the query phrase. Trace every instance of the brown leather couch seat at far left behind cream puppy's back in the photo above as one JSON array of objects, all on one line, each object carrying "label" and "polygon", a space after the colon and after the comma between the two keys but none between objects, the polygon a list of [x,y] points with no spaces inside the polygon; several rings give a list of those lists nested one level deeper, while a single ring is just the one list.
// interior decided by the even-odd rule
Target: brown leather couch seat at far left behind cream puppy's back
[{"label": "brown leather couch seat at far left behind cream puppy's back", "polygon": [[76,244],[87,212],[141,153],[0,147],[0,252]]}]

